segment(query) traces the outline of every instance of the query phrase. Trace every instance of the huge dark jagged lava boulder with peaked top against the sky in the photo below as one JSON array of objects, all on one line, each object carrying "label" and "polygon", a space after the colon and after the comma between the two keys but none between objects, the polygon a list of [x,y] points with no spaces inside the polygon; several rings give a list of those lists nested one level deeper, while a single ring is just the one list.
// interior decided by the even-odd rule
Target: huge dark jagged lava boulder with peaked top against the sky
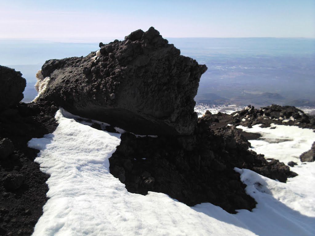
[{"label": "huge dark jagged lava boulder with peaked top against the sky", "polygon": [[40,99],[138,134],[191,134],[205,65],[180,55],[157,30],[135,31],[86,57],[49,60]]}]

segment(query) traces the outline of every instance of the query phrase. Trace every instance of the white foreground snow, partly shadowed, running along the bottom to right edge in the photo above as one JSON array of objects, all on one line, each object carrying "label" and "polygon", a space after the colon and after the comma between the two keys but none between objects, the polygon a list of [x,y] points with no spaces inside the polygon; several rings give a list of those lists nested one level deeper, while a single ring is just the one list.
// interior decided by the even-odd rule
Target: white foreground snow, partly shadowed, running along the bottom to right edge
[{"label": "white foreground snow, partly shadowed, running along the bottom to right edge", "polygon": [[299,176],[288,183],[235,169],[258,204],[233,215],[210,203],[189,207],[162,193],[129,193],[109,172],[121,134],[79,123],[63,109],[55,118],[52,134],[29,141],[40,150],[35,161],[50,174],[49,200],[34,236],[315,235],[314,163],[294,167]]}]

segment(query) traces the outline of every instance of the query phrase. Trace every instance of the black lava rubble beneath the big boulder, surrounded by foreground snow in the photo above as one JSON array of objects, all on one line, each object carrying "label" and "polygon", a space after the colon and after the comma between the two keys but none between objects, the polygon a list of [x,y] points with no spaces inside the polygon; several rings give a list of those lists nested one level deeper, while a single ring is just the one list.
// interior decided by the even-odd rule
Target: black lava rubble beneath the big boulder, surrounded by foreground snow
[{"label": "black lava rubble beneath the big boulder, surrounded by foreground snow", "polygon": [[192,135],[136,137],[123,133],[109,159],[111,173],[129,192],[168,194],[189,206],[210,202],[224,210],[252,210],[255,200],[234,167],[247,168],[286,182],[297,174],[278,160],[247,150],[250,143],[234,126],[211,129],[213,117],[198,119]]}]

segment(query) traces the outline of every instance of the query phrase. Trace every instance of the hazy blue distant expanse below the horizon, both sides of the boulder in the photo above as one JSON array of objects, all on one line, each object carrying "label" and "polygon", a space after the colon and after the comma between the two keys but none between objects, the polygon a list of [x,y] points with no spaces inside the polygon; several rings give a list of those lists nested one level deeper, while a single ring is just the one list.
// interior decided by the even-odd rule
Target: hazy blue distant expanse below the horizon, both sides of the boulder
[{"label": "hazy blue distant expanse below the horizon, both sides of the boulder", "polygon": [[[315,108],[315,39],[167,39],[182,55],[208,67],[195,97],[197,105]],[[35,73],[46,60],[85,56],[98,50],[98,44],[0,40],[0,65],[21,71],[27,81],[23,101],[30,102],[36,96]]]}]

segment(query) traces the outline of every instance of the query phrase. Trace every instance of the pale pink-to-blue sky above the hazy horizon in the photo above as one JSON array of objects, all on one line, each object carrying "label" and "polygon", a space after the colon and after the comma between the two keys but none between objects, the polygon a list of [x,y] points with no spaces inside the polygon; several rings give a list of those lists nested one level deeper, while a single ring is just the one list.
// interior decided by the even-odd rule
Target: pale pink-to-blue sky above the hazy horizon
[{"label": "pale pink-to-blue sky above the hazy horizon", "polygon": [[0,39],[96,42],[150,26],[163,37],[315,38],[315,0],[0,0]]}]

